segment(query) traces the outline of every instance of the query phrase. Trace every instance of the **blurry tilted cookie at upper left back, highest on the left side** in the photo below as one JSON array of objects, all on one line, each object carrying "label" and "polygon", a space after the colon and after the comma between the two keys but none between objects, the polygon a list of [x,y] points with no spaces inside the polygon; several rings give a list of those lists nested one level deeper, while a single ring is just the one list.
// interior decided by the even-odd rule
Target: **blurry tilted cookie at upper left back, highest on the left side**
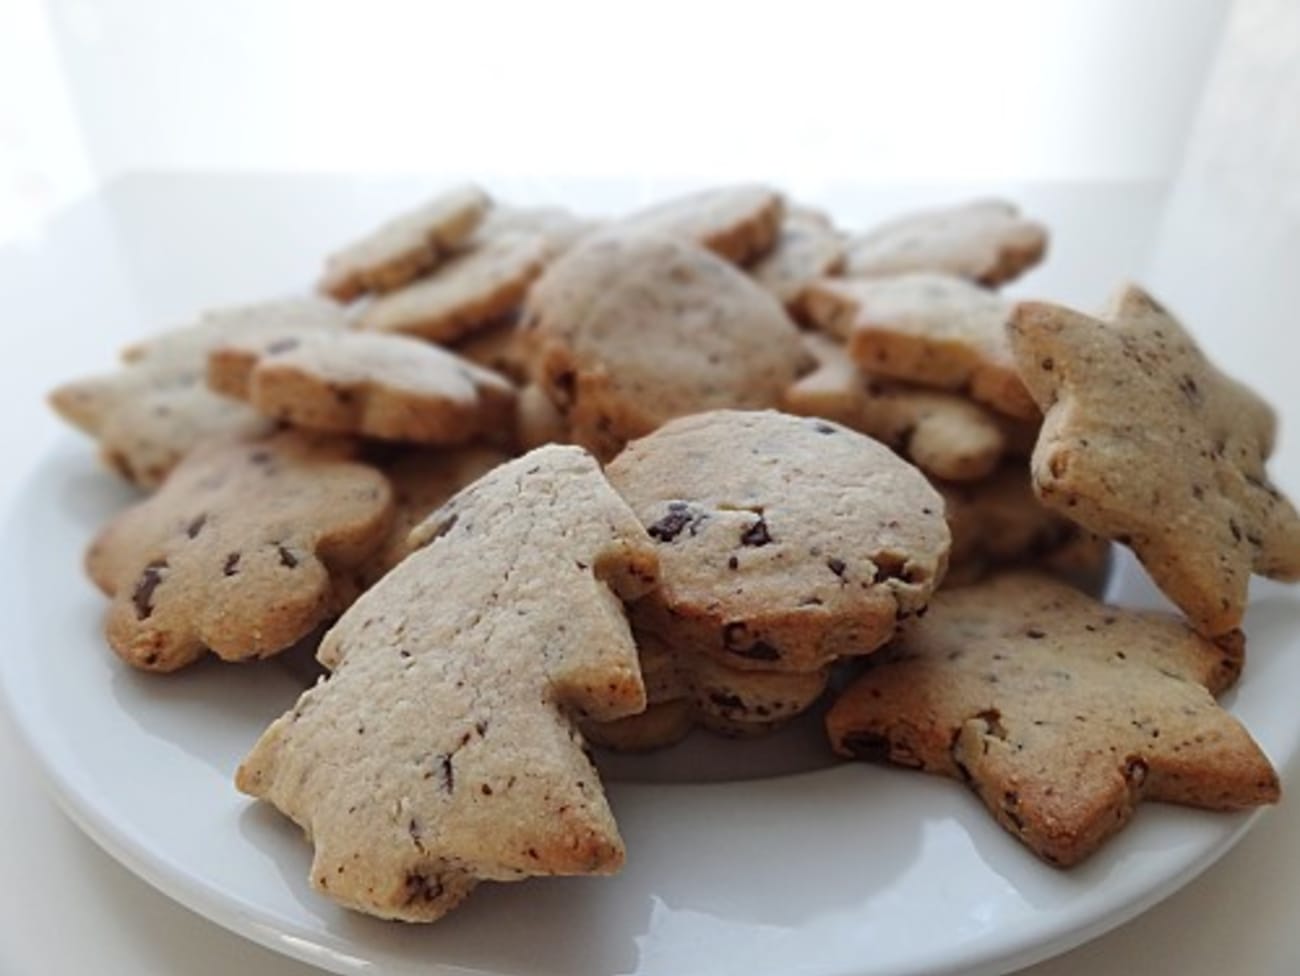
[{"label": "blurry tilted cookie at upper left back, highest on the left side", "polygon": [[318,287],[339,302],[399,289],[442,264],[490,208],[488,194],[472,183],[445,190],[330,255]]}]

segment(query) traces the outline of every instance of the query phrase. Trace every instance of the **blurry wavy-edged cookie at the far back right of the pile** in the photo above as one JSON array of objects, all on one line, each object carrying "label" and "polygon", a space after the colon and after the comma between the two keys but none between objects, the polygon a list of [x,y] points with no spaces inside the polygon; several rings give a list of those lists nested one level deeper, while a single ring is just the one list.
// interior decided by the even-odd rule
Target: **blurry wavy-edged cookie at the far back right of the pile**
[{"label": "blurry wavy-edged cookie at the far back right of the pile", "polygon": [[1046,252],[1046,229],[1005,200],[971,200],[919,211],[850,238],[844,274],[883,278],[944,272],[980,285],[1019,277]]}]

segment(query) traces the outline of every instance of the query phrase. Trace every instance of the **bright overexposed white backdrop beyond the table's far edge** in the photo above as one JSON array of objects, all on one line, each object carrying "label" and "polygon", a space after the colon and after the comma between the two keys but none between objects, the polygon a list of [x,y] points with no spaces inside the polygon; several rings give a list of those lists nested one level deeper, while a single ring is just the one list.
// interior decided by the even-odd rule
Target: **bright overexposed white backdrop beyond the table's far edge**
[{"label": "bright overexposed white backdrop beyond the table's far edge", "polygon": [[0,0],[0,234],[129,172],[1167,178],[1225,0]]}]

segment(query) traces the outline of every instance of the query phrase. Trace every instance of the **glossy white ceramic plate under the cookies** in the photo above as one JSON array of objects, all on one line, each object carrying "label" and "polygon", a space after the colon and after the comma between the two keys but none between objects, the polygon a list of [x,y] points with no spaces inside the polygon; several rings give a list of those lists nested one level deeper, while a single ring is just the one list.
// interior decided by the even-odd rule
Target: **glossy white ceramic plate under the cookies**
[{"label": "glossy white ceramic plate under the cookies", "polygon": [[[1000,972],[1100,934],[1170,894],[1249,816],[1147,806],[1058,872],[953,782],[828,765],[814,721],[758,742],[696,736],[607,765],[627,840],[612,880],[484,885],[432,927],[363,919],[307,885],[308,845],[231,773],[289,703],[307,655],[135,673],[105,649],[81,554],[129,498],[69,441],[17,493],[0,563],[8,708],[68,812],[207,918],[342,973]],[[1154,599],[1132,563],[1112,585]],[[1261,586],[1227,702],[1279,764],[1300,743],[1300,602]],[[1288,646],[1290,645],[1290,646]]]}]

